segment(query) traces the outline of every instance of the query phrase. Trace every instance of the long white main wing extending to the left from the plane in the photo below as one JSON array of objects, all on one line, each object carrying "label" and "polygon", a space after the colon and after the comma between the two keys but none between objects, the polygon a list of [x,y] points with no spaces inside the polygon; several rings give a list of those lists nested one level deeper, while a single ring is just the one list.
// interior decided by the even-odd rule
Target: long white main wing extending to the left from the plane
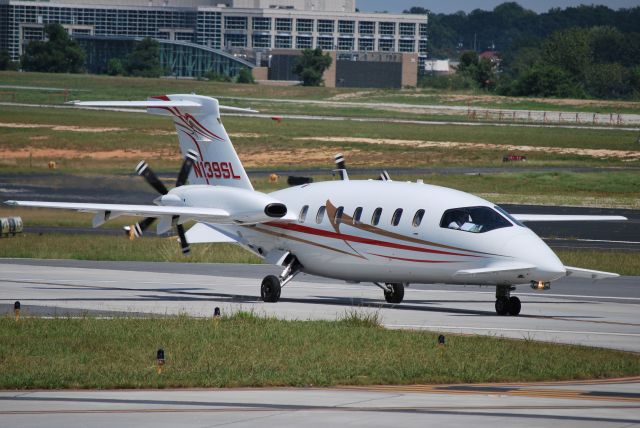
[{"label": "long white main wing extending to the left from the plane", "polygon": [[174,207],[157,205],[127,205],[127,204],[87,204],[74,202],[40,202],[40,201],[6,201],[5,204],[18,207],[39,207],[75,210],[96,213],[93,227],[98,227],[106,220],[125,216],[136,217],[167,217],[180,216],[181,220],[205,220],[216,223],[232,223],[231,216],[225,210],[218,208]]}]

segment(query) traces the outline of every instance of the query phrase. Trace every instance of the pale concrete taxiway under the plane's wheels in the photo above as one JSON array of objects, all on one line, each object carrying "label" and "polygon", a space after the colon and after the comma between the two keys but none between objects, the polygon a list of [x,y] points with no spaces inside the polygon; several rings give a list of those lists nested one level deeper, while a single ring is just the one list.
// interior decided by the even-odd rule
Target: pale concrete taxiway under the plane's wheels
[{"label": "pale concrete taxiway under the plane's wheels", "polygon": [[298,275],[278,303],[264,303],[259,285],[272,266],[81,261],[0,261],[0,307],[62,315],[116,312],[211,316],[253,310],[285,319],[336,319],[355,308],[377,312],[390,328],[427,329],[575,343],[640,352],[640,280],[566,278],[548,292],[520,286],[519,317],[494,311],[493,288],[412,285],[404,302],[387,304],[371,284]]}]

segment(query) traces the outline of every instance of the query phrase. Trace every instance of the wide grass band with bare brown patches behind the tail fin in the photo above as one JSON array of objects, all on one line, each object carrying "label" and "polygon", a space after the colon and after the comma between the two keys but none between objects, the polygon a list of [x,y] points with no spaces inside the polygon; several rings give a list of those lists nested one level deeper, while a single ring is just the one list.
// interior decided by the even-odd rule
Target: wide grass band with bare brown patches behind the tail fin
[{"label": "wide grass band with bare brown patches behind the tail fin", "polygon": [[[609,149],[637,152],[637,133],[615,130],[560,128],[512,128],[462,125],[413,125],[351,121],[285,120],[276,124],[270,119],[225,117],[225,126],[232,134],[241,159],[266,155],[276,151],[292,156],[252,161],[247,167],[286,169],[304,167],[331,168],[331,155],[343,152],[352,167],[380,166],[499,166],[506,153],[526,153],[527,166],[637,166],[639,161],[625,162],[614,157],[594,157],[579,153],[528,152],[509,146],[563,147],[573,149]],[[31,159],[12,157],[0,159],[0,172],[33,173],[48,171],[47,164],[55,160],[63,172],[130,173],[140,158],[152,162],[158,171],[177,171],[179,151],[173,125],[166,118],[146,114],[96,112],[72,109],[41,109],[11,107],[0,110],[0,122],[19,124],[50,124],[94,128],[123,128],[121,131],[77,132],[51,128],[0,128],[0,149],[34,150],[71,149],[65,154],[36,152]],[[160,133],[160,135],[159,135]],[[254,134],[256,137],[233,136]],[[327,137],[322,140],[322,137]],[[343,137],[375,140],[410,140],[491,144],[492,147],[452,148],[415,147],[409,144],[371,144],[347,142]],[[320,138],[320,141],[311,140]],[[329,141],[334,139],[335,141]],[[137,150],[131,157],[113,154],[108,158],[92,158],[90,151]],[[318,152],[323,155],[318,156]],[[40,153],[40,154],[38,154]],[[125,153],[126,154],[126,153]],[[314,154],[313,156],[311,154]]]}]

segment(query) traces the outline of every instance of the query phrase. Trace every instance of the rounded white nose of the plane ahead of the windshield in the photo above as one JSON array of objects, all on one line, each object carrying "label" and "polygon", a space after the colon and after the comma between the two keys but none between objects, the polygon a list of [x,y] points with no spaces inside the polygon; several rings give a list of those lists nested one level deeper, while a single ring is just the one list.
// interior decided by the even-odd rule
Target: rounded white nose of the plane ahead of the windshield
[{"label": "rounded white nose of the plane ahead of the windshield", "polygon": [[532,231],[510,240],[504,251],[506,256],[536,266],[532,274],[534,281],[554,281],[566,275],[558,256]]}]

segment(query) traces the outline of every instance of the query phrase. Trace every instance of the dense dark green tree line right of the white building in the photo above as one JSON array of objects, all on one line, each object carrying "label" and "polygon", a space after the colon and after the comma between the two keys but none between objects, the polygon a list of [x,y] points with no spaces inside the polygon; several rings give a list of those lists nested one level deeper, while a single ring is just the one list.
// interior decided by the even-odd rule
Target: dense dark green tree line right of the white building
[{"label": "dense dark green tree line right of the white building", "polygon": [[[640,7],[537,14],[509,2],[493,11],[429,17],[431,57],[458,58],[460,65],[458,75],[425,76],[423,85],[517,96],[640,98]],[[480,59],[483,50],[500,52],[500,62]]]}]

